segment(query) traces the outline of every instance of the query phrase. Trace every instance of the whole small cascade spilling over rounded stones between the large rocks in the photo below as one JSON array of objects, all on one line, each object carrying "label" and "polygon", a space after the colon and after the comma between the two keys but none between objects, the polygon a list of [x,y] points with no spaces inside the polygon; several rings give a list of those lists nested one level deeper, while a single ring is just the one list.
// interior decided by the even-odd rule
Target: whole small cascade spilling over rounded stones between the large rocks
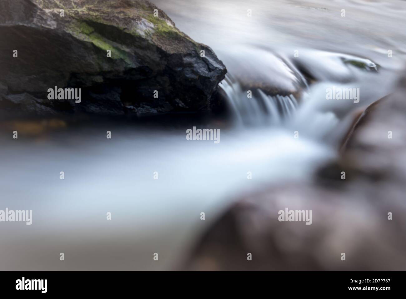
[{"label": "whole small cascade spilling over rounded stones between the large rocks", "polygon": [[[378,71],[376,63],[358,56],[313,49],[303,49],[300,53],[300,57],[289,58],[283,51],[274,54],[272,50],[253,47],[242,53],[229,53],[234,59],[226,56],[230,61],[229,73],[219,87],[233,111],[235,125],[278,126],[291,132],[300,131],[300,136],[305,138],[338,143],[352,124],[351,111],[389,92],[371,87],[381,85],[382,77],[376,75],[383,70]],[[241,58],[242,54],[254,57],[253,61],[247,62]],[[361,103],[327,100],[326,89],[332,86],[359,88]],[[273,89],[284,91],[284,95],[266,92]],[[250,98],[248,90],[252,91]],[[286,95],[288,90],[300,93],[300,105],[293,94]]]}]

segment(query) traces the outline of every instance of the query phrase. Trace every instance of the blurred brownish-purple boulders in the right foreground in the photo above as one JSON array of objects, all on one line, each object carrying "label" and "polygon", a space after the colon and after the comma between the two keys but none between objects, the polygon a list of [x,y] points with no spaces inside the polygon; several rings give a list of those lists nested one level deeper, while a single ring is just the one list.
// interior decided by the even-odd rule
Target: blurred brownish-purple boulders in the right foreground
[{"label": "blurred brownish-purple boulders in the right foreground", "polygon": [[[240,199],[203,235],[184,269],[405,271],[405,129],[406,74],[361,115],[339,160],[320,169],[314,184]],[[312,210],[312,224],[279,222],[285,208]]]}]

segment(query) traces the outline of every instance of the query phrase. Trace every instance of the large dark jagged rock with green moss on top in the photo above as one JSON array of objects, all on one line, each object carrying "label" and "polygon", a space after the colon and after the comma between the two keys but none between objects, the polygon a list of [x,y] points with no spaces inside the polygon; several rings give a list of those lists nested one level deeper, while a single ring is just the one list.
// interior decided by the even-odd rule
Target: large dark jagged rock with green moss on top
[{"label": "large dark jagged rock with green moss on top", "polygon": [[227,72],[145,0],[0,0],[0,65],[2,115],[209,111]]}]

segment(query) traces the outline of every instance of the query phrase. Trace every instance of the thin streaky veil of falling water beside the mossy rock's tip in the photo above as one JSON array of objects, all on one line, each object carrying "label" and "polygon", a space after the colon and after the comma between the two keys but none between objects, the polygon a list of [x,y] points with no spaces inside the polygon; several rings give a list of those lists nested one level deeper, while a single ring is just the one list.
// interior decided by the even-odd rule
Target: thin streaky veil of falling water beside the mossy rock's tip
[{"label": "thin streaky veil of falling water beside the mossy rock's tip", "polygon": [[246,90],[230,74],[220,83],[220,89],[229,103],[237,124],[261,125],[280,124],[284,119],[292,117],[298,107],[294,95],[267,95],[261,89],[252,90],[252,98],[248,98]]}]

